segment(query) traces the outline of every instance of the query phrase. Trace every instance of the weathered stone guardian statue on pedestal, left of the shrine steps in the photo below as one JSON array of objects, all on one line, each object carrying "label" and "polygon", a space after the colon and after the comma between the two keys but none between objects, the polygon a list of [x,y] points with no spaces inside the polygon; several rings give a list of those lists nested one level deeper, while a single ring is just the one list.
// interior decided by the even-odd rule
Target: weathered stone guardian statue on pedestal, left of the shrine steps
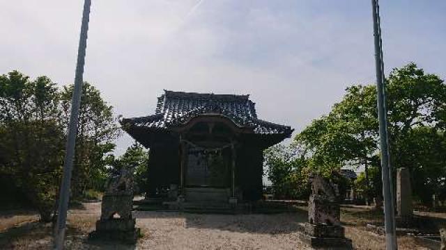
[{"label": "weathered stone guardian statue on pedestal, left of the shrine steps", "polygon": [[135,227],[136,219],[132,216],[133,171],[133,167],[121,169],[107,181],[100,219],[96,231],[89,235],[91,239],[137,242],[139,228]]}]

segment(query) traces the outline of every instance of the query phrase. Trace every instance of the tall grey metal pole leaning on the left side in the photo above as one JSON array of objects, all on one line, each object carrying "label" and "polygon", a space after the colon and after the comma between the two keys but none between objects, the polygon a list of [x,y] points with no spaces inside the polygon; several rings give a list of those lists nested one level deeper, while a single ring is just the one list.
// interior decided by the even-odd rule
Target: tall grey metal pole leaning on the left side
[{"label": "tall grey metal pole leaning on the left side", "polygon": [[72,161],[75,155],[75,144],[77,135],[77,122],[79,120],[79,106],[82,96],[82,83],[84,81],[84,65],[86,39],[89,31],[91,0],[84,1],[84,12],[82,14],[81,33],[79,38],[79,49],[77,51],[77,65],[75,73],[75,88],[72,94],[70,124],[68,126],[68,139],[66,144],[66,155],[63,164],[63,178],[59,190],[59,208],[57,214],[56,230],[54,231],[54,249],[63,249],[66,231],[66,219],[68,201],[70,200],[70,182],[72,172]]}]

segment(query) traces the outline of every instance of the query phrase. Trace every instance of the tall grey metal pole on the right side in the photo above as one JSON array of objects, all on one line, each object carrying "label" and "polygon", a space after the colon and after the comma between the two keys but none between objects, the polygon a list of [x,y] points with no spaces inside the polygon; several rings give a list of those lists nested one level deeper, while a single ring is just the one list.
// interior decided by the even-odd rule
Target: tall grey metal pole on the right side
[{"label": "tall grey metal pole on the right side", "polygon": [[375,63],[376,63],[376,94],[378,97],[378,118],[381,151],[381,169],[383,178],[384,217],[385,217],[385,248],[396,250],[397,238],[395,233],[394,202],[392,201],[392,181],[389,153],[389,139],[387,131],[387,108],[385,100],[383,47],[379,17],[378,0],[371,0],[374,18]]}]

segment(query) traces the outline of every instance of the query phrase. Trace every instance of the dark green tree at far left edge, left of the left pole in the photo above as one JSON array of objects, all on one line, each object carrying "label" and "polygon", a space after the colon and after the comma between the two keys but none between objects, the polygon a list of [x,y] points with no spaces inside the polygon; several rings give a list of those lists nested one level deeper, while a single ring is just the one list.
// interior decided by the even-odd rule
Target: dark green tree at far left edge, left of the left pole
[{"label": "dark green tree at far left edge, left of the left pole", "polygon": [[0,76],[0,173],[51,220],[63,160],[63,129],[55,83],[20,72]]}]

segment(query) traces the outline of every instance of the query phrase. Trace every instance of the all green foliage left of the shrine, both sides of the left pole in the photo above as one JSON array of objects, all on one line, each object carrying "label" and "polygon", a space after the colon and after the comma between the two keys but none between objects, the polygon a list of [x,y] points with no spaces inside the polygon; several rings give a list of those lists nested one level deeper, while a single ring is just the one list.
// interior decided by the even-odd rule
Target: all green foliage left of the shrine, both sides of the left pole
[{"label": "all green foliage left of the shrine, both sides of the left pole", "polygon": [[[58,194],[72,87],[46,76],[31,81],[14,71],[0,76],[0,174],[13,180],[40,218],[51,220]],[[105,179],[105,154],[118,135],[112,107],[86,83],[82,96],[75,175],[82,191]],[[80,174],[79,174],[80,173]]]}]

